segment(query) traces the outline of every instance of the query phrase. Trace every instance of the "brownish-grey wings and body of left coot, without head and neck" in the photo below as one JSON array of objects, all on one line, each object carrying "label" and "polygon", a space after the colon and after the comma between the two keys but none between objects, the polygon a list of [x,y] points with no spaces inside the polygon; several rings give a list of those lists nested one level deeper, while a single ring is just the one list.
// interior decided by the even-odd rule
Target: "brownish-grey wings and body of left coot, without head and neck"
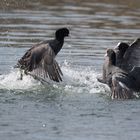
[{"label": "brownish-grey wings and body of left coot, without head and neck", "polygon": [[18,61],[18,67],[35,79],[62,81],[62,71],[55,60],[54,51],[47,43],[30,48]]}]

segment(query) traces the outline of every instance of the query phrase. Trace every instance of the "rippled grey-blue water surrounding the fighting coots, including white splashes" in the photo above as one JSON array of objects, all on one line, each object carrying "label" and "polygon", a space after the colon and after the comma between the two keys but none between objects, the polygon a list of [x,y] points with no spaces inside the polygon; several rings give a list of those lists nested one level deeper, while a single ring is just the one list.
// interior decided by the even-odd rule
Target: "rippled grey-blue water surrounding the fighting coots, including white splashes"
[{"label": "rippled grey-blue water surrounding the fighting coots, including white splashes", "polygon": [[[139,140],[140,101],[111,100],[97,82],[106,48],[140,37],[139,0],[2,0],[1,140]],[[62,83],[42,85],[13,69],[32,45],[67,27],[57,56]]]}]

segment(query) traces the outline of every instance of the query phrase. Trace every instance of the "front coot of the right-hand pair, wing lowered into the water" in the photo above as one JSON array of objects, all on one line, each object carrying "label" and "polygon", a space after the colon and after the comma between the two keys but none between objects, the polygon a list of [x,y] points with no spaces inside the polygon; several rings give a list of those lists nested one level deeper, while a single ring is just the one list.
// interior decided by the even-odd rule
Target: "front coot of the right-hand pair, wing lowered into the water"
[{"label": "front coot of the right-hand pair, wing lowered into the water", "polygon": [[140,87],[135,79],[135,74],[140,73],[140,67],[134,67],[130,72],[116,66],[116,54],[114,50],[107,50],[108,63],[106,68],[106,84],[111,89],[111,97],[117,99],[132,98],[135,92],[140,91]]}]

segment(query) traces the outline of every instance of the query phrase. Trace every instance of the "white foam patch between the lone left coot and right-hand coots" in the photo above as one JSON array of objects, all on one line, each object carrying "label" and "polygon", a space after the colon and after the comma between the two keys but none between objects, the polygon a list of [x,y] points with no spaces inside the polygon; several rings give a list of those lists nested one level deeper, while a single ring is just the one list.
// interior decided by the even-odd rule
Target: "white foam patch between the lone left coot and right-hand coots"
[{"label": "white foam patch between the lone left coot and right-hand coots", "polygon": [[97,81],[98,73],[92,67],[73,69],[66,63],[62,67],[66,91],[98,93],[109,90]]}]

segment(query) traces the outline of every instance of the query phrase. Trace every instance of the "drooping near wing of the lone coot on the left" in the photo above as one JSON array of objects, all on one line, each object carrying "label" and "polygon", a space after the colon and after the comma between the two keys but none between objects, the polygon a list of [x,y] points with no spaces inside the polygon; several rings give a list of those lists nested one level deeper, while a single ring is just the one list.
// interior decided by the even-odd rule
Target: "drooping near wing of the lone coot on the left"
[{"label": "drooping near wing of the lone coot on the left", "polygon": [[61,76],[62,71],[55,60],[55,54],[51,47],[43,45],[43,54],[39,63],[34,63],[33,71],[31,74],[36,75],[37,77],[46,79],[50,78],[53,81],[60,82],[62,81]]}]

